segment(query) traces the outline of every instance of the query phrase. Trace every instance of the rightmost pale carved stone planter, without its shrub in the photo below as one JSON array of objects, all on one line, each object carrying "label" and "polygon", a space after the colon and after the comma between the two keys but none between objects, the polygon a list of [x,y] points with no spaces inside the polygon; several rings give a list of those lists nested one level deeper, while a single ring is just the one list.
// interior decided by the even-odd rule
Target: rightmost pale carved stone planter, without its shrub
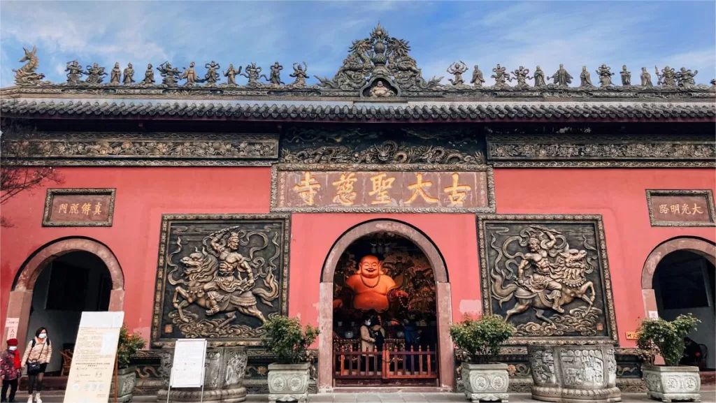
[{"label": "rightmost pale carved stone planter, without its shrub", "polygon": [[642,366],[647,395],[651,399],[671,402],[701,402],[701,378],[698,366]]}]

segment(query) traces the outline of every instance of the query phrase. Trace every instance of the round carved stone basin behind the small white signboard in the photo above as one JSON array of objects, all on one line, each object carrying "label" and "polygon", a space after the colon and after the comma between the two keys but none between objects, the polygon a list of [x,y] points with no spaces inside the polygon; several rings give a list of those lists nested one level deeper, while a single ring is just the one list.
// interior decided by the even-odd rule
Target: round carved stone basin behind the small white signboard
[{"label": "round carved stone basin behind the small white signboard", "polygon": [[243,347],[208,347],[204,372],[204,394],[200,388],[171,388],[173,347],[162,350],[161,375],[162,389],[157,393],[157,402],[166,402],[169,394],[170,402],[222,402],[234,403],[246,400],[246,388],[243,377],[246,373],[248,354]]}]

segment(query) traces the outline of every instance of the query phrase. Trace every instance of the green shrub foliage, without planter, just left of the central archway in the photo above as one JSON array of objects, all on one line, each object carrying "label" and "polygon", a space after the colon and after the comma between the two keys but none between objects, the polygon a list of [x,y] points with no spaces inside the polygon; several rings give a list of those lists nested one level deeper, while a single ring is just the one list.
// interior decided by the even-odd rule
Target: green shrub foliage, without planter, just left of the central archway
[{"label": "green shrub foliage, without planter, just left of the central archway", "polygon": [[301,327],[298,318],[274,316],[263,325],[266,335],[263,345],[276,354],[279,364],[298,364],[306,361],[306,349],[316,341],[320,331],[317,327]]}]

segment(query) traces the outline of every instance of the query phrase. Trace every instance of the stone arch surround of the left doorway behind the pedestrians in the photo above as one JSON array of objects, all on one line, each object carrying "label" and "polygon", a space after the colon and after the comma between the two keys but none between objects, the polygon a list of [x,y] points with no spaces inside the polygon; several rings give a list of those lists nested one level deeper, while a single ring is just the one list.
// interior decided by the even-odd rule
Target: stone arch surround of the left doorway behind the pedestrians
[{"label": "stone arch surround of the left doorway behind the pedestrians", "polygon": [[[38,278],[43,277],[40,283],[44,284],[45,290],[47,290],[48,283],[51,281],[51,273],[43,273],[44,269],[51,265],[53,261],[62,263],[62,260],[59,258],[67,256],[69,253],[80,253],[79,255],[75,255],[75,257],[83,261],[88,261],[90,264],[92,264],[91,262],[94,260],[96,263],[105,266],[111,282],[111,286],[107,286],[107,288],[109,288],[107,290],[109,293],[109,303],[106,307],[107,311],[122,311],[125,296],[124,276],[122,274],[122,268],[120,268],[120,263],[117,261],[114,253],[110,251],[110,248],[102,245],[102,243],[86,238],[63,239],[50,243],[34,253],[32,258],[26,261],[15,278],[13,289],[10,291],[6,318],[19,319],[16,338],[21,342],[26,340],[27,337],[30,314],[33,307],[33,292],[37,286]],[[84,253],[85,256],[82,256],[82,253]],[[87,253],[91,253],[92,256],[87,256]],[[67,260],[67,258],[64,260]],[[97,299],[102,299],[99,295],[100,290],[97,290],[97,292]],[[44,301],[47,303],[47,300]],[[7,339],[8,331],[9,329],[4,330],[3,340]]]}]

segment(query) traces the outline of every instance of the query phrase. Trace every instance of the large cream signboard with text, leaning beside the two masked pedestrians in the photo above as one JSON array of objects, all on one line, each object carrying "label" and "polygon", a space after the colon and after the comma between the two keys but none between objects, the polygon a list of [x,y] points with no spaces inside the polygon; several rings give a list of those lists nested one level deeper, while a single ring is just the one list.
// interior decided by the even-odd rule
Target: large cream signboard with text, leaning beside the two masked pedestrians
[{"label": "large cream signboard with text, leaning beside the two masked pedestrians", "polygon": [[65,403],[107,402],[124,318],[124,312],[82,312]]}]

